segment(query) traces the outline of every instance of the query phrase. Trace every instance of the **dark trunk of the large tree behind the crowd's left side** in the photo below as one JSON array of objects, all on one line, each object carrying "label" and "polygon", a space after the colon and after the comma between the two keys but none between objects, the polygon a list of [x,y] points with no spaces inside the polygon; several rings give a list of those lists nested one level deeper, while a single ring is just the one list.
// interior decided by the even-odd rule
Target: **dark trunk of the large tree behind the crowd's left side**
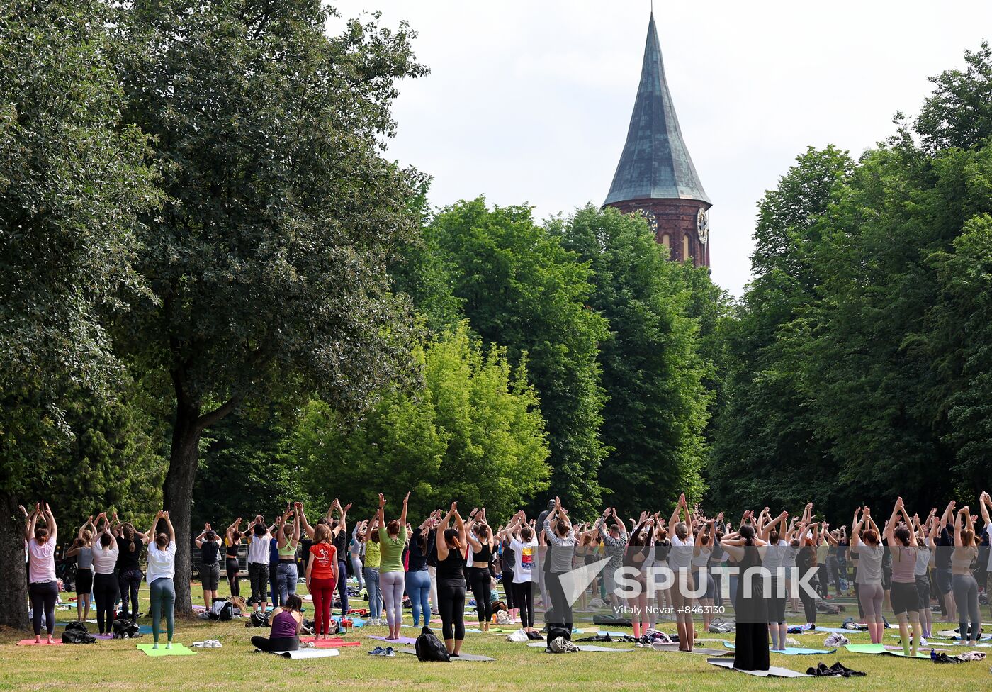
[{"label": "dark trunk of the large tree behind the crowd's left side", "polygon": [[199,436],[202,432],[198,418],[197,407],[184,406],[182,403],[176,407],[169,473],[163,487],[163,504],[176,530],[176,613],[181,616],[192,615],[192,594],[189,588],[189,579],[192,576],[189,555],[192,534],[189,532],[189,519],[192,486],[196,481],[198,465]]}]

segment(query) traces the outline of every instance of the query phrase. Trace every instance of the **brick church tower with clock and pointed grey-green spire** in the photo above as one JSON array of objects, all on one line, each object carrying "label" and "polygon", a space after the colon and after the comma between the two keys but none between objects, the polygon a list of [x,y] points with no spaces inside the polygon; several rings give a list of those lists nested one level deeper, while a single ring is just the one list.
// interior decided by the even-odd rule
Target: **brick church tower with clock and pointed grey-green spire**
[{"label": "brick church tower with clock and pointed grey-green spire", "polygon": [[708,267],[711,206],[682,141],[652,13],[627,142],[603,207],[640,213],[672,259]]}]

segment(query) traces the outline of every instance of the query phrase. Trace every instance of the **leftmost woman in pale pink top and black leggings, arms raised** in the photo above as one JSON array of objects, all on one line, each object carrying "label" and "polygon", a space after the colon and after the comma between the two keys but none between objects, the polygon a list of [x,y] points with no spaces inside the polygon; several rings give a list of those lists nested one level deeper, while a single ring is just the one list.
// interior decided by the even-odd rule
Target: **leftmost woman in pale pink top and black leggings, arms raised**
[{"label": "leftmost woman in pale pink top and black leggings, arms raised", "polygon": [[[42,519],[45,526],[39,526]],[[59,599],[59,582],[56,580],[56,543],[59,526],[49,503],[42,509],[35,504],[35,511],[24,524],[24,540],[28,542],[28,594],[31,596],[31,625],[35,628],[35,643],[42,642],[42,616],[48,629],[50,644],[55,643],[52,632],[56,627],[56,601]]]}]

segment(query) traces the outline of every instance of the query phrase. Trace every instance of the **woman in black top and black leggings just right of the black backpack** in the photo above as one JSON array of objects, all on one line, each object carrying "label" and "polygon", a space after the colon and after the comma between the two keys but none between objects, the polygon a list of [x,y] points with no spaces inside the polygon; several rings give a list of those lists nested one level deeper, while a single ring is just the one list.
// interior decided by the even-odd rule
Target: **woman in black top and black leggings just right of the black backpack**
[{"label": "woman in black top and black leggings just right of the black backpack", "polygon": [[[454,517],[454,528],[447,524]],[[451,502],[451,508],[440,520],[437,535],[437,610],[440,612],[444,646],[452,656],[457,656],[465,639],[465,566],[464,551],[467,539],[465,524],[458,514],[458,503]]]}]

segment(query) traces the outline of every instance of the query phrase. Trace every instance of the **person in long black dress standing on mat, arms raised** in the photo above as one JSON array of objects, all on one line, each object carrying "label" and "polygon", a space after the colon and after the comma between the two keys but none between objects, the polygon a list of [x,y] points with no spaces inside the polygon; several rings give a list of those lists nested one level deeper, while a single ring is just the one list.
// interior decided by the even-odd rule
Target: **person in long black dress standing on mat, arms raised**
[{"label": "person in long black dress standing on mat, arms raised", "polygon": [[735,533],[724,536],[720,545],[740,570],[737,579],[737,627],[734,667],[740,670],[768,670],[768,608],[763,590],[769,580],[758,574],[745,578],[748,570],[762,566],[765,541],[755,538],[752,524],[742,524]]}]

